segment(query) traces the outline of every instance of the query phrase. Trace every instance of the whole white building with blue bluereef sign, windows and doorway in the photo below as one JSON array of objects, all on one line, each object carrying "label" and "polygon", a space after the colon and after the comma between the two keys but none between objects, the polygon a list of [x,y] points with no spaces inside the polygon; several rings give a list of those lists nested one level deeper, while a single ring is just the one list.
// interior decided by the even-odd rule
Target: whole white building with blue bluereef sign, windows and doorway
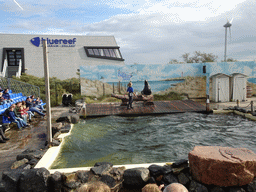
[{"label": "whole white building with blue bluereef sign, windows and doorway", "polygon": [[25,72],[43,77],[43,40],[48,45],[50,77],[78,77],[83,65],[124,64],[114,36],[0,34],[2,76]]}]

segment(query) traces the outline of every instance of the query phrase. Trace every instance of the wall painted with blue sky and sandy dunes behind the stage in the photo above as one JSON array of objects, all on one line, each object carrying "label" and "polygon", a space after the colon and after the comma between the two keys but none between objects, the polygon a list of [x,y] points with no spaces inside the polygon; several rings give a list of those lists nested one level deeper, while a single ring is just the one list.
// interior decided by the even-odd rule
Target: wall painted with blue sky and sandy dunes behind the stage
[{"label": "wall painted with blue sky and sandy dunes behind the stage", "polygon": [[[206,67],[206,73],[203,71]],[[125,92],[129,81],[133,82],[136,92],[140,93],[144,80],[148,80],[153,94],[175,91],[189,98],[205,97],[207,87],[211,95],[211,76],[223,73],[241,73],[247,76],[248,83],[256,91],[256,63],[221,62],[191,64],[133,64],[133,65],[96,65],[80,66],[81,93],[86,96],[101,96],[117,91],[118,82]],[[104,90],[103,90],[104,85]],[[114,87],[114,90],[113,90]]]}]

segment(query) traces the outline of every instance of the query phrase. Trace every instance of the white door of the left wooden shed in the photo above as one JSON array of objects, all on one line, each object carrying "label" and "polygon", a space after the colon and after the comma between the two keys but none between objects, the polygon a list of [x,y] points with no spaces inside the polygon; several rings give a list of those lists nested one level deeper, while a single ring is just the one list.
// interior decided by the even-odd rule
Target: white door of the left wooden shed
[{"label": "white door of the left wooden shed", "polygon": [[218,102],[229,101],[229,79],[218,79]]}]

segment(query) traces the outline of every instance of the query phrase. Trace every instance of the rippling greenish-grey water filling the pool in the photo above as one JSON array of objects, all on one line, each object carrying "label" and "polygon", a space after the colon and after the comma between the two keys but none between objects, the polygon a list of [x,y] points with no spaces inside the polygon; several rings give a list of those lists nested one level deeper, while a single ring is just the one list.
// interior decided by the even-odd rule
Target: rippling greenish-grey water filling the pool
[{"label": "rippling greenish-grey water filling the pool", "polygon": [[256,122],[241,116],[179,113],[108,116],[76,124],[51,168],[173,162],[197,145],[244,147],[256,153]]}]

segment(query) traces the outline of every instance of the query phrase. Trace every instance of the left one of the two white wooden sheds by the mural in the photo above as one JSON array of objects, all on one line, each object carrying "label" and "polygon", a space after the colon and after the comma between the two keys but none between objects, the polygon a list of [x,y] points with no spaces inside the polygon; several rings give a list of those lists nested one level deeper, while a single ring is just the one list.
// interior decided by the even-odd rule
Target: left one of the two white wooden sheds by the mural
[{"label": "left one of the two white wooden sheds by the mural", "polygon": [[217,73],[210,77],[212,79],[212,97],[214,102],[228,102],[230,101],[230,76]]}]

